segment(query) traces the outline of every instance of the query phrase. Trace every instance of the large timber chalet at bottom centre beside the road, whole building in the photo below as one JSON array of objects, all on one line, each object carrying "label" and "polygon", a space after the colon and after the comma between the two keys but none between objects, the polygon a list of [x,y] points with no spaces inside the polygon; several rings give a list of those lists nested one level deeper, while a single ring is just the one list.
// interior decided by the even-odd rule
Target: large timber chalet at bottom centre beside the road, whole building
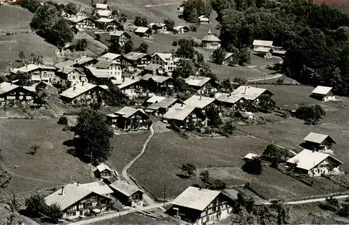
[{"label": "large timber chalet at bottom centre beside the road, whole building", "polygon": [[227,218],[233,205],[234,200],[221,191],[188,187],[167,212],[191,224],[212,224]]}]

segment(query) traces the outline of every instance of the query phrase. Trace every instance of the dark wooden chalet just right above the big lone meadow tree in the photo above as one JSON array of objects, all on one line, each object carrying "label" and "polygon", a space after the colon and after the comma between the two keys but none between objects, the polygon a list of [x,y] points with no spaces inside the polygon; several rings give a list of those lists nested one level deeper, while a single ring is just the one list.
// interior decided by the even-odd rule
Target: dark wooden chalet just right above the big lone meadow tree
[{"label": "dark wooden chalet just right above the big lone meadow tree", "polygon": [[114,114],[107,115],[107,123],[124,130],[147,130],[149,116],[143,109],[124,107]]}]

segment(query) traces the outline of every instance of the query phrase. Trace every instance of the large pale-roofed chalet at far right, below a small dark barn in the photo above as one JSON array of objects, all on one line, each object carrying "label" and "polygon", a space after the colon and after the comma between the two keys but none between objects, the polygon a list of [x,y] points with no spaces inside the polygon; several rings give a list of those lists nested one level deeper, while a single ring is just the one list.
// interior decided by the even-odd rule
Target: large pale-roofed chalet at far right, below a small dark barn
[{"label": "large pale-roofed chalet at far right, below a small dark barn", "polygon": [[302,150],[287,162],[294,166],[296,172],[307,174],[310,177],[338,174],[340,173],[339,166],[343,164],[332,155],[308,149]]}]

